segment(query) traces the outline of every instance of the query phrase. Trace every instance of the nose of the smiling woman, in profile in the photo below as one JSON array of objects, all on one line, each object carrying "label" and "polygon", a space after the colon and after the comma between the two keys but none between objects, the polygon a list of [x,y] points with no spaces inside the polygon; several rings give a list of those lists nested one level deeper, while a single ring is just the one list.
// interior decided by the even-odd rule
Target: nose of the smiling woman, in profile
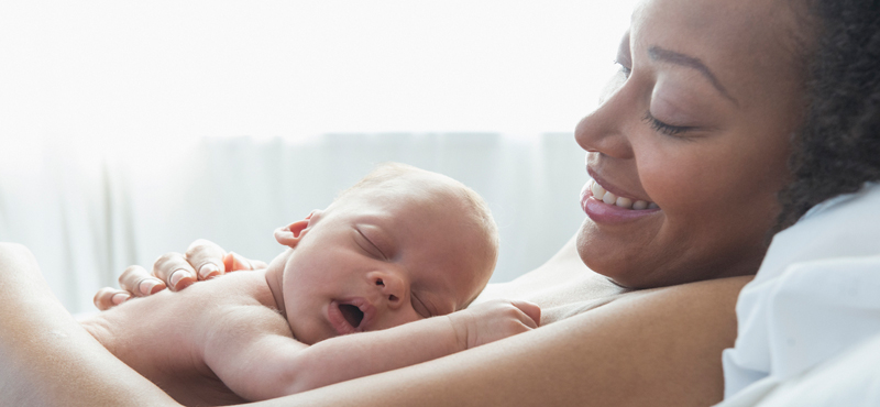
[{"label": "nose of the smiling woman, in profile", "polygon": [[[631,158],[632,148],[627,134],[632,130],[636,100],[626,82],[610,84],[600,106],[581,119],[574,139],[581,148],[615,158]],[[636,123],[638,124],[638,123]]]}]

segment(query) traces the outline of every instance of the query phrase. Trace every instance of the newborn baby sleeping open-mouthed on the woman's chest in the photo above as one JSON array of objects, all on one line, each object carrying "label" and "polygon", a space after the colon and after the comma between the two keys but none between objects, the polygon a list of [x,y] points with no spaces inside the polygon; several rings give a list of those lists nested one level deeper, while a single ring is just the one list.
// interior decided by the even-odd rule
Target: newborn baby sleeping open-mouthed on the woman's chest
[{"label": "newborn baby sleeping open-mouthed on the woman's chest", "polygon": [[[288,395],[539,323],[528,302],[463,310],[495,266],[497,230],[476,193],[439,174],[382,166],[275,240],[286,249],[266,270],[129,300],[82,323],[183,404]],[[140,326],[140,312],[169,323]],[[129,349],[134,337],[154,345]]]}]

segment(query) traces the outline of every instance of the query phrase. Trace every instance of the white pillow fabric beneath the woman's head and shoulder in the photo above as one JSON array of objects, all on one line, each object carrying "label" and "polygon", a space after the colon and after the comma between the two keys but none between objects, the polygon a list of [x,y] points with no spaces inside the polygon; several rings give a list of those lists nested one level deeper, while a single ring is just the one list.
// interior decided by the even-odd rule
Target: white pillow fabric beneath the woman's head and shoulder
[{"label": "white pillow fabric beneath the woman's head and shoulder", "polygon": [[756,402],[880,334],[879,211],[880,185],[869,183],[774,237],[737,301],[739,333],[723,354],[723,406],[752,405],[734,400]]}]

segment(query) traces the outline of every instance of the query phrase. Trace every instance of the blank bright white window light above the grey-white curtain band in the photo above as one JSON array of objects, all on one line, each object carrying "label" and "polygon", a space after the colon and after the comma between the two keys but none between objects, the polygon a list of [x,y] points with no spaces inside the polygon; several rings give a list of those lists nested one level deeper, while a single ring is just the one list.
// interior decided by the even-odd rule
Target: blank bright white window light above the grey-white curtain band
[{"label": "blank bright white window light above the grey-white curtain band", "polygon": [[7,1],[0,138],[571,131],[632,1]]}]

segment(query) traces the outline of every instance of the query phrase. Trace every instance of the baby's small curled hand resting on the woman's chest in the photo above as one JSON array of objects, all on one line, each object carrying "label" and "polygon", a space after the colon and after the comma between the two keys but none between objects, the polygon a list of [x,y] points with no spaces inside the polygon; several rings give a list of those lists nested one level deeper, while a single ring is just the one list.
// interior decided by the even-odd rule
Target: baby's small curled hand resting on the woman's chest
[{"label": "baby's small curled hand resting on the woman's chest", "polygon": [[538,328],[541,308],[528,301],[496,299],[448,317],[460,346],[470,349]]}]

